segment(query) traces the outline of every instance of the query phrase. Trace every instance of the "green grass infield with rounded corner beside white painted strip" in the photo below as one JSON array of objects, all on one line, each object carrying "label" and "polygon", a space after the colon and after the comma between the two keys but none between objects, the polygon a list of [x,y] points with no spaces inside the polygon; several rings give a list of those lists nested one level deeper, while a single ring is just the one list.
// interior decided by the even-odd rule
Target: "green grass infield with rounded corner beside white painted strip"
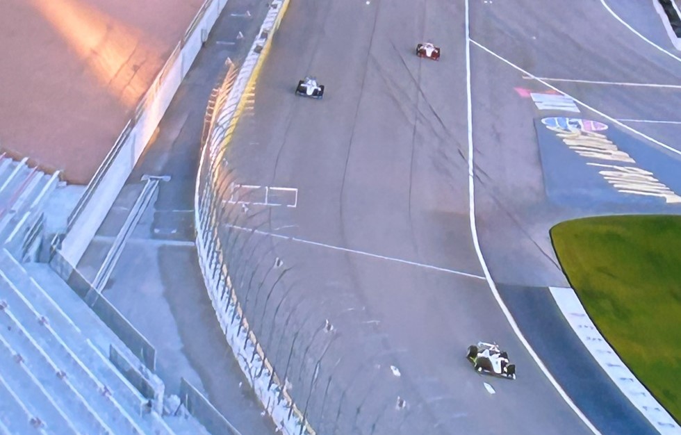
[{"label": "green grass infield with rounded corner beside white painted strip", "polygon": [[586,312],[680,421],[681,216],[587,217],[550,232]]}]

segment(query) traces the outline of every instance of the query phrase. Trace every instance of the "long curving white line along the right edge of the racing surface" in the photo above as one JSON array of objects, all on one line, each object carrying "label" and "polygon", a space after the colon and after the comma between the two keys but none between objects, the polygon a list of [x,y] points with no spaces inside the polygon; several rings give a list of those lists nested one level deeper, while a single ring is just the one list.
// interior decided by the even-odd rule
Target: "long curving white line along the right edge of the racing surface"
[{"label": "long curving white line along the right edge of the racing surface", "polygon": [[477,258],[480,262],[480,266],[482,267],[482,271],[485,274],[487,284],[489,285],[489,288],[492,291],[492,294],[494,295],[494,299],[496,299],[501,311],[506,316],[509,325],[511,325],[511,329],[513,329],[513,331],[516,333],[516,336],[518,336],[518,340],[520,340],[520,343],[523,343],[527,352],[530,354],[530,356],[532,356],[532,359],[534,359],[534,361],[536,362],[536,365],[544,373],[546,378],[550,381],[550,383],[556,389],[558,394],[563,398],[566,404],[568,404],[568,407],[570,407],[575,412],[575,414],[577,414],[577,417],[579,417],[580,420],[584,422],[584,425],[586,425],[586,427],[589,427],[593,434],[600,435],[598,429],[596,429],[596,427],[593,424],[591,424],[589,419],[586,418],[586,416],[584,416],[582,410],[577,408],[577,405],[575,405],[575,403],[571,400],[567,393],[565,393],[560,384],[558,384],[556,379],[554,379],[554,377],[548,371],[546,366],[544,366],[544,363],[541,361],[541,359],[539,359],[539,355],[537,355],[536,352],[534,352],[534,349],[532,349],[530,343],[527,341],[527,339],[525,339],[525,336],[523,336],[523,333],[520,331],[518,324],[516,324],[516,320],[513,318],[513,315],[511,315],[511,312],[509,311],[506,304],[504,304],[504,301],[501,298],[501,295],[499,294],[499,290],[497,289],[496,284],[494,284],[492,276],[489,273],[487,262],[485,261],[484,256],[482,256],[482,249],[480,249],[480,242],[477,237],[477,224],[475,223],[475,172],[474,172],[475,165],[473,165],[473,99],[471,97],[470,90],[470,43],[473,42],[476,45],[479,44],[470,39],[470,17],[469,17],[470,6],[468,4],[468,0],[465,1],[465,5],[466,5],[466,106],[467,106],[466,124],[468,126],[468,220],[470,221],[470,233],[471,236],[473,237],[473,246],[475,247],[475,253],[477,254]]}]

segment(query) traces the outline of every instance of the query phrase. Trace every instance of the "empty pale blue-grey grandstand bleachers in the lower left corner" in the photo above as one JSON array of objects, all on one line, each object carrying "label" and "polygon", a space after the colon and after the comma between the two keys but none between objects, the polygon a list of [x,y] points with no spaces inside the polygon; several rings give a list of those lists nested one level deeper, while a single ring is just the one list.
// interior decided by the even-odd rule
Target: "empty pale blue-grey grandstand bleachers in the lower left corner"
[{"label": "empty pale blue-grey grandstand bleachers in the lower left corner", "polygon": [[26,162],[0,155],[0,434],[207,434],[47,263],[30,261],[63,184]]}]

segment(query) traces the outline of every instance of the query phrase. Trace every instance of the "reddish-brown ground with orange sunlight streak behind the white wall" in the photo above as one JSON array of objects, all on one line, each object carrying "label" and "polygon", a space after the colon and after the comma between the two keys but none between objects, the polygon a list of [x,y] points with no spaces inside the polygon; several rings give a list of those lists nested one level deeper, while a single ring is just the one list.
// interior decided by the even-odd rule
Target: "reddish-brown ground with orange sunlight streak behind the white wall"
[{"label": "reddish-brown ground with orange sunlight streak behind the white wall", "polygon": [[0,146],[85,184],[202,0],[6,0]]}]

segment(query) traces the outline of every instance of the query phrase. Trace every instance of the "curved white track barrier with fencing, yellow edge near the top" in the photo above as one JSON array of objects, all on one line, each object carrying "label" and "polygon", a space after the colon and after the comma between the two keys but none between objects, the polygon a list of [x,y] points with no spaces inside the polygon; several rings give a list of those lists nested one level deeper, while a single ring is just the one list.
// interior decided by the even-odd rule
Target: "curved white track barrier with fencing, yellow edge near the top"
[{"label": "curved white track barrier with fencing, yellow edge near the top", "polygon": [[[270,50],[272,35],[279,27],[289,0],[275,0],[261,26],[238,75],[227,74],[222,87],[213,95],[206,113],[208,130],[202,147],[195,192],[195,226],[199,265],[208,295],[225,338],[245,373],[249,384],[275,425],[287,435],[315,435],[300,411],[283,379],[280,379],[265,355],[254,331],[249,327],[229,276],[229,265],[219,235],[222,204],[220,187],[224,184],[227,162],[224,152],[236,122],[245,107],[243,96],[254,88],[259,71]],[[224,186],[222,186],[224,187]]]}]

